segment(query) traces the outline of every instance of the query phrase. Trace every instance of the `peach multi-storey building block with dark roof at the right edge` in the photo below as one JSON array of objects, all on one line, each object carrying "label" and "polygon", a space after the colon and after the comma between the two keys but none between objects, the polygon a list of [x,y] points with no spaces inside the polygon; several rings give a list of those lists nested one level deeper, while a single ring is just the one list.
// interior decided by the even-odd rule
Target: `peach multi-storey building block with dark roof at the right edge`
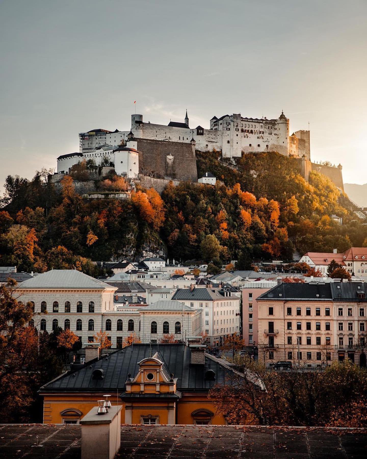
[{"label": "peach multi-storey building block with dark roof at the right edge", "polygon": [[320,366],[349,358],[366,366],[364,282],[281,283],[257,298],[259,359]]}]

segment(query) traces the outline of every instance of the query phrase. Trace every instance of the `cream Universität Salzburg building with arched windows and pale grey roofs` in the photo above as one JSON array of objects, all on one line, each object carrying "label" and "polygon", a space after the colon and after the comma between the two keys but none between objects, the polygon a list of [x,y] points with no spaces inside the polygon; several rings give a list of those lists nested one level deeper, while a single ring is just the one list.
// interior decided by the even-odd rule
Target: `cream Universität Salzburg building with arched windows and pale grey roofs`
[{"label": "cream Universit\u00e4t Salzburg building with arched windows and pale grey roofs", "polygon": [[146,306],[139,304],[137,295],[136,301],[132,298],[134,304],[124,306],[118,301],[120,294],[114,302],[116,291],[117,286],[73,269],[39,274],[17,288],[20,301],[33,303],[33,326],[41,332],[52,332],[57,327],[70,329],[83,343],[94,341],[99,331],[106,332],[112,347],[122,346],[133,332],[149,342],[164,334],[181,339],[183,333],[197,336],[201,331],[200,311],[177,301]]}]

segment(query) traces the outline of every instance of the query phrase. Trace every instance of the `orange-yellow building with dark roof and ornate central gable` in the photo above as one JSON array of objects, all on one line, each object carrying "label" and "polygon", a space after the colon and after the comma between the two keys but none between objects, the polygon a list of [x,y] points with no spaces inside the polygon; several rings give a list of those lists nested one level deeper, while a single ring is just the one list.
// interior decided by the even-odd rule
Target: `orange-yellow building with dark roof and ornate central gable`
[{"label": "orange-yellow building with dark roof and ornate central gable", "polygon": [[226,424],[209,390],[232,370],[199,344],[134,344],[86,362],[40,389],[45,424],[78,424],[103,395],[128,424]]}]

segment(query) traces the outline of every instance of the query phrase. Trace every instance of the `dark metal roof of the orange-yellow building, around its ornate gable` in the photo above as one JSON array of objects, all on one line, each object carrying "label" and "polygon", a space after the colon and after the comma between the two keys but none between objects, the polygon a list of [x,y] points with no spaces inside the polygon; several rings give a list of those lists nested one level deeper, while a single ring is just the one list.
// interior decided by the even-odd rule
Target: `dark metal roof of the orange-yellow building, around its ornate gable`
[{"label": "dark metal roof of the orange-yellow building, around its ornate gable", "polygon": [[[225,375],[230,372],[224,361],[208,354],[205,355],[204,365],[192,365],[191,348],[184,344],[160,344],[159,346],[156,344],[134,344],[124,347],[122,351],[108,354],[108,357],[100,358],[100,360],[91,360],[81,369],[68,371],[42,386],[40,392],[60,392],[61,390],[65,392],[98,392],[107,389],[123,392],[128,374],[130,373],[132,377],[135,376],[139,370],[138,362],[156,352],[159,352],[168,375],[173,373],[174,377],[178,378],[177,389],[179,391],[207,392],[217,383],[225,384]],[[102,380],[92,379],[95,369],[103,369],[104,378]],[[205,374],[208,369],[214,371],[215,381],[206,380]]]}]

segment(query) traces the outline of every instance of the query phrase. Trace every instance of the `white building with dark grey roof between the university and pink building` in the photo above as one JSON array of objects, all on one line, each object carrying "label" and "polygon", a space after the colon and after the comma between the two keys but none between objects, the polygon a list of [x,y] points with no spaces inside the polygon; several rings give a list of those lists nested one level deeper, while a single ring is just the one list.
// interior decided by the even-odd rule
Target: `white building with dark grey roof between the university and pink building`
[{"label": "white building with dark grey roof between the university and pink building", "polygon": [[[236,294],[235,294],[236,293]],[[240,298],[239,292],[230,288],[198,288],[191,285],[179,289],[172,300],[183,302],[186,306],[201,309],[202,330],[210,340],[211,346],[221,346],[228,336],[239,333]]]}]

